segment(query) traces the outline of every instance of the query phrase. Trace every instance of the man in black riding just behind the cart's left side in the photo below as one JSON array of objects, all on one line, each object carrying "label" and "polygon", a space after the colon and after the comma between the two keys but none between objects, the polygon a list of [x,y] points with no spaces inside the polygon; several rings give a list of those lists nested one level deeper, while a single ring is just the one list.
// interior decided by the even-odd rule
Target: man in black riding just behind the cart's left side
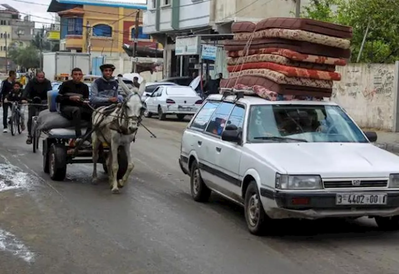
[{"label": "man in black riding just behind the cart's left side", "polygon": [[[45,78],[44,72],[38,71],[36,77],[26,85],[22,97],[26,100],[33,100],[35,97],[40,98],[41,103],[44,104],[47,103],[47,91],[51,89],[51,82]],[[36,112],[45,109],[44,106],[29,106],[28,108],[28,139],[26,139],[28,145],[32,144],[32,117],[36,115]]]}]

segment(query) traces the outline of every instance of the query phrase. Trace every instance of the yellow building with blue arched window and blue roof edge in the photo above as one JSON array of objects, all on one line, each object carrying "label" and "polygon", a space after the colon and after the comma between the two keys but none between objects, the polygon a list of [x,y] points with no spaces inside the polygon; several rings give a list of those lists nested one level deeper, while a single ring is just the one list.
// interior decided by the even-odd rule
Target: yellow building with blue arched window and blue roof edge
[{"label": "yellow building with blue arched window and blue roof edge", "polygon": [[126,2],[52,0],[47,12],[57,12],[60,17],[60,50],[117,56],[125,54],[123,45],[134,43],[139,11],[138,45],[156,48],[150,35],[142,32],[141,10],[145,9],[146,5]]}]

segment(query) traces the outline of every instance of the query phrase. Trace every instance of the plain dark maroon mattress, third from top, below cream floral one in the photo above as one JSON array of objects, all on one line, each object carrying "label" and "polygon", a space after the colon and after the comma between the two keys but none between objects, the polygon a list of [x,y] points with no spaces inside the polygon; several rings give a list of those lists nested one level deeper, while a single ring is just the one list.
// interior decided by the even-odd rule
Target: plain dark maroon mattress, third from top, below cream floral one
[{"label": "plain dark maroon mattress, third from top, below cream floral one", "polygon": [[[227,51],[241,51],[245,48],[247,41],[225,40],[224,48]],[[350,49],[340,49],[337,47],[330,47],[325,45],[318,45],[305,41],[294,41],[288,39],[259,39],[253,40],[249,49],[264,49],[264,48],[279,48],[289,49],[298,53],[344,58],[348,59],[351,56]]]}]

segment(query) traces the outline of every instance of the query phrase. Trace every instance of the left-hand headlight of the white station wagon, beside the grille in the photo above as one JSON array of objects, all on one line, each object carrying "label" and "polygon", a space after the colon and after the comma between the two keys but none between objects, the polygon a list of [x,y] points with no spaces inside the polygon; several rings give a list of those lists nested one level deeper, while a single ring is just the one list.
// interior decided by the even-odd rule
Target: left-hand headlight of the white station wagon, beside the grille
[{"label": "left-hand headlight of the white station wagon, beside the grille", "polygon": [[319,175],[284,175],[276,173],[276,188],[289,190],[322,189]]}]

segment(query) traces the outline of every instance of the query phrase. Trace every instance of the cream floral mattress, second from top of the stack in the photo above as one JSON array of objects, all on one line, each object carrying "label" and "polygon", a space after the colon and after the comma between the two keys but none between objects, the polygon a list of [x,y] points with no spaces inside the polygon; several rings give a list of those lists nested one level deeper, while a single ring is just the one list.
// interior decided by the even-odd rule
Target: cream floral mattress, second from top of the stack
[{"label": "cream floral mattress, second from top of the stack", "polygon": [[338,47],[340,49],[349,49],[350,40],[338,37],[332,37],[324,34],[314,33],[310,31],[304,31],[300,29],[263,29],[251,32],[240,32],[234,34],[234,40],[245,40],[249,39],[264,39],[264,38],[282,38],[294,41],[306,41],[310,43]]}]

